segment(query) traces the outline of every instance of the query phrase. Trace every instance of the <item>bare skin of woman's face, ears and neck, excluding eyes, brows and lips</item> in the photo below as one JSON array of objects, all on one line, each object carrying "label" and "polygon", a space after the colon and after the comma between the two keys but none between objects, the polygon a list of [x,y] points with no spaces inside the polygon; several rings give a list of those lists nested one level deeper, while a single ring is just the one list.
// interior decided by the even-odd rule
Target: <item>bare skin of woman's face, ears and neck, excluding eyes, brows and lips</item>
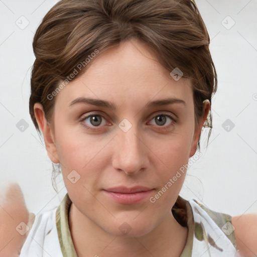
[{"label": "bare skin of woman's face, ears and neck, excluding eyes, brows and lips", "polygon": [[[85,103],[69,106],[77,97],[108,100],[117,109]],[[186,105],[145,107],[148,101],[167,97],[182,99]],[[122,42],[97,56],[82,76],[58,93],[54,127],[47,124],[42,106],[35,104],[49,158],[60,163],[73,202],[69,224],[78,256],[85,256],[84,252],[86,256],[110,256],[113,252],[122,256],[180,255],[187,228],[175,220],[171,208],[185,174],[155,203],[146,198],[124,205],[102,190],[143,185],[153,188],[149,197],[154,196],[195,154],[209,111],[208,101],[204,108],[200,127],[195,127],[191,81],[175,81],[151,51],[137,41]],[[92,124],[90,117],[79,120],[89,113],[102,116],[99,126]],[[176,121],[165,116],[166,122],[160,125],[155,118],[158,114],[173,115]],[[132,124],[127,132],[118,126],[124,118]],[[85,129],[83,124],[96,131]],[[68,179],[73,170],[80,176],[74,184]],[[124,222],[131,228],[126,235],[119,229]]]}]

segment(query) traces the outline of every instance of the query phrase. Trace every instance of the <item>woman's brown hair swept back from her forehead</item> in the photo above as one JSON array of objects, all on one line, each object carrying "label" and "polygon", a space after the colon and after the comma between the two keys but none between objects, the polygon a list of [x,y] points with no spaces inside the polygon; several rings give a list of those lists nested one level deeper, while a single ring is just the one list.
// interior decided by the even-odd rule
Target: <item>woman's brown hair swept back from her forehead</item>
[{"label": "woman's brown hair swept back from her forehead", "polygon": [[[76,78],[83,74],[93,62],[86,65],[85,59],[96,50],[103,53],[132,38],[150,47],[169,72],[179,68],[183,77],[192,79],[195,124],[199,125],[203,101],[209,99],[211,104],[216,92],[217,75],[209,51],[210,38],[193,1],[62,0],[43,18],[33,41],[36,60],[29,108],[37,131],[36,102],[43,105],[50,122],[55,102],[52,93],[60,82],[74,69],[79,71]],[[209,140],[211,111],[204,126],[210,128]],[[200,138],[197,148],[200,150]]]}]

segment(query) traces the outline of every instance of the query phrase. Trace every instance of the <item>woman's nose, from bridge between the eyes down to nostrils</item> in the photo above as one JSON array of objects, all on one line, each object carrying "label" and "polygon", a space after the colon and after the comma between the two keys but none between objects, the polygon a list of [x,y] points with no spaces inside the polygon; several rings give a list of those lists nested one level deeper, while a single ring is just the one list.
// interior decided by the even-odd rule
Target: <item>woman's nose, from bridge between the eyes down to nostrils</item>
[{"label": "woman's nose, from bridge between the eyes down to nostrils", "polygon": [[[134,122],[135,119],[134,119]],[[128,119],[123,119],[119,124],[115,139],[115,153],[113,166],[127,174],[133,174],[144,168],[145,146],[141,139],[138,126]]]}]

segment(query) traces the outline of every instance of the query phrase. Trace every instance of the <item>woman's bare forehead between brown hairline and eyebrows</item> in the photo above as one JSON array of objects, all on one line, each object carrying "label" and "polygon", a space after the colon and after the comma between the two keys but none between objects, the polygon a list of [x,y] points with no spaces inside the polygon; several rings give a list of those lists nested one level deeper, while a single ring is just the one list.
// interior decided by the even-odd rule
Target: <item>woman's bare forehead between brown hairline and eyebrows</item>
[{"label": "woman's bare forehead between brown hairline and eyebrows", "polygon": [[92,58],[84,74],[70,81],[57,95],[67,104],[77,97],[108,99],[112,102],[140,104],[163,97],[189,102],[192,86],[189,79],[175,81],[143,43],[122,42]]}]

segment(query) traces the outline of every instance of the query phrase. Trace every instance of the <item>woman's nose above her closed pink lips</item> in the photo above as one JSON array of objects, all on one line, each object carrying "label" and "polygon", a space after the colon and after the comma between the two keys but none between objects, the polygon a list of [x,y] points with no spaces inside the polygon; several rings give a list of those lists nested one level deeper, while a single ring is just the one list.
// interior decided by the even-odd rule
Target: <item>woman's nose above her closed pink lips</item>
[{"label": "woman's nose above her closed pink lips", "polygon": [[112,165],[116,170],[127,175],[133,175],[146,169],[148,166],[147,146],[144,136],[139,133],[136,125],[128,131],[117,130],[113,139]]}]

